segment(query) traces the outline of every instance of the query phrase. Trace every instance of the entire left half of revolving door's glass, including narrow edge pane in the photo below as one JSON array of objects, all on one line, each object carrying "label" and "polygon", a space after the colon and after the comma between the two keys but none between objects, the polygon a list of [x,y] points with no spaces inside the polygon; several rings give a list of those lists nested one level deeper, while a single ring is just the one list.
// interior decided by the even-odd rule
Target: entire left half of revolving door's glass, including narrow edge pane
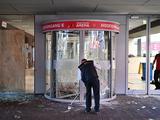
[{"label": "entire left half of revolving door's glass, including narrow edge pane", "polygon": [[79,31],[54,31],[51,36],[46,35],[46,88],[52,98],[68,99],[79,93]]}]

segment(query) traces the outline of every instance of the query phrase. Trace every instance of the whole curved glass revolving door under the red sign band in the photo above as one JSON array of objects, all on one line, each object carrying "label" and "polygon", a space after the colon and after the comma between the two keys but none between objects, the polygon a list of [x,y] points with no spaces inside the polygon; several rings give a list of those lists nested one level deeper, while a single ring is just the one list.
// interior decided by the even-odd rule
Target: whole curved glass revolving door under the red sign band
[{"label": "whole curved glass revolving door under the red sign band", "polygon": [[53,100],[85,98],[78,66],[82,58],[94,60],[101,99],[111,98],[115,81],[115,33],[104,30],[45,32],[46,96]]}]

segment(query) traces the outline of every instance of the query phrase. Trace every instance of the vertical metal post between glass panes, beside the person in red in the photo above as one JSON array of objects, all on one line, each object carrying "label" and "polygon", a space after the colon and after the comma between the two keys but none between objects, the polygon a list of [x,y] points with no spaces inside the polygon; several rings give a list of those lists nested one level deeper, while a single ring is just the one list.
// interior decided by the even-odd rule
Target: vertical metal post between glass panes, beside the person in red
[{"label": "vertical metal post between glass panes, beside the person in red", "polygon": [[150,47],[149,47],[149,43],[150,43],[150,18],[147,17],[147,26],[146,26],[146,30],[147,30],[147,43],[146,43],[146,59],[147,59],[147,66],[146,66],[146,89],[147,89],[147,95],[149,94],[149,82],[150,82]]}]

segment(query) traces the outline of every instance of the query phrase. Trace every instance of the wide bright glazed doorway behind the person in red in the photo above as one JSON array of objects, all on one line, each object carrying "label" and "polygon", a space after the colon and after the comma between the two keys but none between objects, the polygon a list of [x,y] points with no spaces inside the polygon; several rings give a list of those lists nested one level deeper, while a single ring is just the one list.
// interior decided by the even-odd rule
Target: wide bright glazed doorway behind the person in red
[{"label": "wide bright glazed doorway behind the person in red", "polygon": [[160,94],[155,90],[152,63],[160,50],[157,16],[129,16],[127,94]]}]

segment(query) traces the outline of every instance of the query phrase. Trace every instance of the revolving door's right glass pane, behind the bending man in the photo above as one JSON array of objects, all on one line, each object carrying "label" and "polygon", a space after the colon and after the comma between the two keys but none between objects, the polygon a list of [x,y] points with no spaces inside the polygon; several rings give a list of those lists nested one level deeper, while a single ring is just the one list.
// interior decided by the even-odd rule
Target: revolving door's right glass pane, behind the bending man
[{"label": "revolving door's right glass pane, behind the bending man", "polygon": [[94,60],[100,80],[101,98],[110,95],[111,38],[107,31],[85,31],[84,58]]}]

